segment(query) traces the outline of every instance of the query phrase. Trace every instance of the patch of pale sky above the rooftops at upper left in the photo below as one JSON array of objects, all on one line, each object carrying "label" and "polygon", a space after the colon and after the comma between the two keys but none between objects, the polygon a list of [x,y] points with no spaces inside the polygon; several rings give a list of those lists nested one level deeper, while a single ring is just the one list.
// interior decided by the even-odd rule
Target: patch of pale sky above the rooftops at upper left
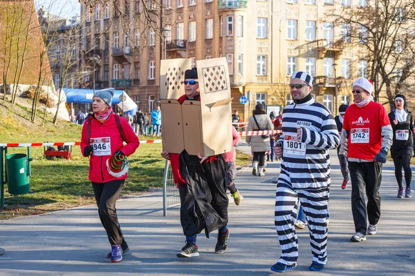
[{"label": "patch of pale sky above the rooftops at upper left", "polygon": [[44,6],[51,14],[68,19],[80,15],[80,2],[78,0],[35,0],[36,9]]}]

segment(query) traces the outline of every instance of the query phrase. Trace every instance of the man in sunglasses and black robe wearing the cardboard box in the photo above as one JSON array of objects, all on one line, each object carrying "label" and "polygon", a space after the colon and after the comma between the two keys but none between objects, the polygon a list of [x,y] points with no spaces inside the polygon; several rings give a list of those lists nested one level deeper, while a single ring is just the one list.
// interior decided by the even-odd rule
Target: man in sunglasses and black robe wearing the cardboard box
[{"label": "man in sunglasses and black robe wearing the cardboard box", "polygon": [[[196,68],[185,71],[185,95],[178,102],[200,101],[199,81]],[[223,117],[228,120],[229,117]],[[218,121],[218,124],[221,124]],[[195,130],[199,131],[199,130]],[[170,160],[174,183],[180,193],[181,226],[186,244],[176,253],[177,257],[199,256],[196,235],[205,230],[206,237],[219,230],[215,253],[225,253],[228,248],[228,196],[226,195],[225,158],[223,154],[211,157],[161,152]]]}]

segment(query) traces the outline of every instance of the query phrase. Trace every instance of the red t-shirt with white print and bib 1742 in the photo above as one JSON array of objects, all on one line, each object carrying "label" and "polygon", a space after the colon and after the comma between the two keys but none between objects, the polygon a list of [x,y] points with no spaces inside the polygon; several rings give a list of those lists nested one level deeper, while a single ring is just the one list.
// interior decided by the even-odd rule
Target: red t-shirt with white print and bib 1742
[{"label": "red t-shirt with white print and bib 1742", "polygon": [[343,129],[350,130],[347,157],[372,161],[380,151],[383,126],[391,124],[385,108],[371,101],[362,108],[352,104],[344,115]]}]

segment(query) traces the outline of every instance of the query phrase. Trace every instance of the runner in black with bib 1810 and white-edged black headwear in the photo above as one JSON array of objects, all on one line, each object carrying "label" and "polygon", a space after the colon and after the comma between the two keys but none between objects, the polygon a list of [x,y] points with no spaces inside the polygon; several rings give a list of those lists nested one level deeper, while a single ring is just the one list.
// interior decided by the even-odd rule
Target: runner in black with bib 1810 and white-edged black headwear
[{"label": "runner in black with bib 1810 and white-edged black headwear", "polygon": [[415,132],[414,124],[412,123],[412,112],[408,111],[407,101],[404,95],[398,94],[395,96],[395,110],[389,112],[387,115],[391,126],[394,130],[394,141],[391,146],[391,157],[395,164],[395,177],[398,181],[398,198],[403,198],[402,186],[402,168],[405,172],[405,197],[412,197],[411,195],[411,157],[414,150],[412,144],[412,132]]}]

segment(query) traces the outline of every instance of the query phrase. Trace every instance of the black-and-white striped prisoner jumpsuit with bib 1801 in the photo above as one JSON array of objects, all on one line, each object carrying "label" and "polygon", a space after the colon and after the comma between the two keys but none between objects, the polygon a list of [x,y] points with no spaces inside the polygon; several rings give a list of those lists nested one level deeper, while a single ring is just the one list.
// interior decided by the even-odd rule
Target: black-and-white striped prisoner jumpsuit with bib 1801
[{"label": "black-and-white striped prisoner jumpsuit with bib 1801", "polygon": [[[302,128],[301,144],[300,141],[293,144],[297,128]],[[288,266],[297,263],[294,223],[301,202],[308,222],[313,262],[326,264],[329,150],[340,144],[337,126],[331,112],[311,98],[284,108],[282,131],[278,143],[284,146],[275,198],[275,228],[282,249],[278,262]]]}]

